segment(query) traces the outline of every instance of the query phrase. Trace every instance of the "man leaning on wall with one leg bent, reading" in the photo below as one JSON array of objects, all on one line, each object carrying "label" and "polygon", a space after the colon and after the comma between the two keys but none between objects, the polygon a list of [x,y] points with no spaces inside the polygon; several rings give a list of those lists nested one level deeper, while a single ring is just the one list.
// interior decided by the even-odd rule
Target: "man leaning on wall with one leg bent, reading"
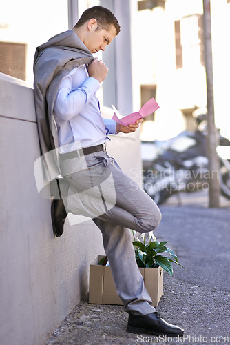
[{"label": "man leaning on wall with one leg bent, reading", "polygon": [[[37,48],[34,95],[41,151],[45,169],[62,176],[56,192],[63,201],[53,193],[52,224],[60,236],[66,208],[91,217],[100,228],[118,295],[129,313],[127,331],[182,335],[182,328],[167,324],[151,306],[128,230],[154,230],[160,210],[105,150],[109,133],[135,132],[140,123],[121,126],[103,119],[96,98],[108,68],[92,53],[104,51],[119,32],[114,14],[94,6],[85,10],[72,30]],[[51,175],[55,174],[51,171]]]}]

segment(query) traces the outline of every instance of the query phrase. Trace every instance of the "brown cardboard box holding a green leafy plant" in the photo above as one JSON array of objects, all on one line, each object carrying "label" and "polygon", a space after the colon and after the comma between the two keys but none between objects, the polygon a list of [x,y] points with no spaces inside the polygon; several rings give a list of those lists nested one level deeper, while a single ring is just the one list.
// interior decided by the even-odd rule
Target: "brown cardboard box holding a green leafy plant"
[{"label": "brown cardboard box holding a green leafy plant", "polygon": [[[98,265],[105,255],[90,264],[90,293],[89,302],[94,304],[123,304],[116,293],[114,279],[109,266]],[[139,268],[143,275],[145,288],[151,297],[152,305],[158,306],[163,294],[163,268]]]}]

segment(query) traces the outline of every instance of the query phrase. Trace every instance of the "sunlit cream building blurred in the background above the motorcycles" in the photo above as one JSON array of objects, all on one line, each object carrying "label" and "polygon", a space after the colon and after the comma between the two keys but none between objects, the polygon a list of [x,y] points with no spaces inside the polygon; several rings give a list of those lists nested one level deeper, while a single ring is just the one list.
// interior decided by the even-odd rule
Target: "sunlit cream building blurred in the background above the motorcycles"
[{"label": "sunlit cream building blurred in the background above the motorcycles", "polygon": [[[156,3],[162,6],[155,7]],[[196,121],[192,115],[207,112],[202,0],[168,0],[165,6],[163,3],[138,1],[136,12],[134,59],[142,101],[150,93],[156,94],[160,105],[155,116],[143,124],[143,141],[169,139],[183,130],[194,130]],[[216,126],[228,138],[229,16],[229,1],[211,1]],[[140,28],[145,28],[145,32]],[[141,47],[147,54],[140,71]]]}]

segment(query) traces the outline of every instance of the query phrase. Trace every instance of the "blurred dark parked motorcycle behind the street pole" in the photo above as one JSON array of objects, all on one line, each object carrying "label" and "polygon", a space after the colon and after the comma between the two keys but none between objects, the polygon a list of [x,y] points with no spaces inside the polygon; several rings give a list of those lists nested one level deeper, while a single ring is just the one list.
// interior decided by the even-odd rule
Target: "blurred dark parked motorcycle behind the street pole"
[{"label": "blurred dark parked motorcycle behind the street pole", "polygon": [[[208,168],[205,115],[196,118],[196,132],[182,132],[170,139],[151,166],[144,172],[144,190],[156,204],[181,191],[208,190],[212,178]],[[230,141],[220,135],[218,146],[220,190],[230,199]]]}]

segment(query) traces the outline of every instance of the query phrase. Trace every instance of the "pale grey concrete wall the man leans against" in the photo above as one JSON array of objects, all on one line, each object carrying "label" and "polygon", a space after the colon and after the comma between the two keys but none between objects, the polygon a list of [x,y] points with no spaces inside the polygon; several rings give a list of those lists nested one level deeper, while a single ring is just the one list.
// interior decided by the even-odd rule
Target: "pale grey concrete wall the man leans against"
[{"label": "pale grey concrete wall the man leans against", "polygon": [[[140,171],[138,134],[112,141],[108,152],[122,168]],[[103,253],[101,233],[90,220],[67,222],[54,237],[50,201],[39,198],[34,181],[33,90],[1,73],[0,155],[0,342],[41,345],[87,293],[89,264]]]}]

